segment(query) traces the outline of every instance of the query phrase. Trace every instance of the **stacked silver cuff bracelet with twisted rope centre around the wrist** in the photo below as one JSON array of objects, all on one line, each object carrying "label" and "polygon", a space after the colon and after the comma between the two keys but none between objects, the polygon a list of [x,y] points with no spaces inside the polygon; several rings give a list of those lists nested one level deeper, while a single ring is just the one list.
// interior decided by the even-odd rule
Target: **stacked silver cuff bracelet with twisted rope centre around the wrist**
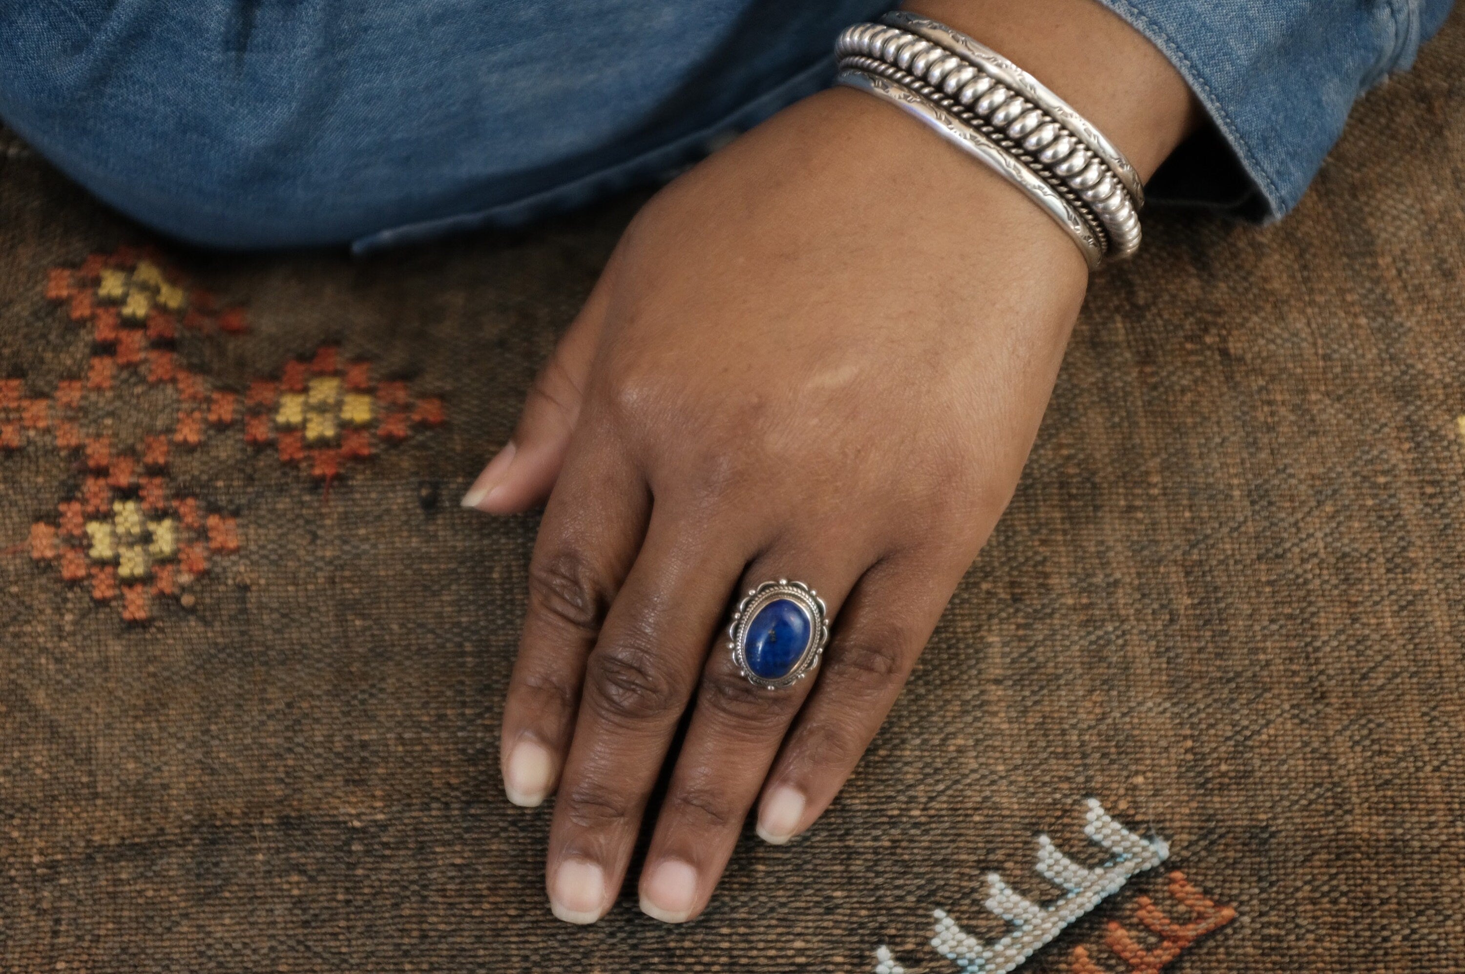
[{"label": "stacked silver cuff bracelet with twisted rope centre around the wrist", "polygon": [[1138,249],[1138,173],[1083,116],[996,51],[897,12],[845,29],[835,56],[839,83],[900,105],[1027,192],[1090,269]]}]

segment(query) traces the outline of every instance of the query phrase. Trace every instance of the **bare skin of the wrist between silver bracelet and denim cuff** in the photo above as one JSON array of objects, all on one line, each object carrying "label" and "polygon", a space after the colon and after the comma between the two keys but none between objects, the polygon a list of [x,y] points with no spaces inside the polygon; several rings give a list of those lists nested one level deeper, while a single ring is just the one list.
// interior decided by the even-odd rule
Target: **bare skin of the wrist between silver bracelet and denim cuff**
[{"label": "bare skin of the wrist between silver bracelet and denim cuff", "polygon": [[905,9],[1031,73],[1103,132],[1143,179],[1204,117],[1159,48],[1097,0],[913,0]]}]

